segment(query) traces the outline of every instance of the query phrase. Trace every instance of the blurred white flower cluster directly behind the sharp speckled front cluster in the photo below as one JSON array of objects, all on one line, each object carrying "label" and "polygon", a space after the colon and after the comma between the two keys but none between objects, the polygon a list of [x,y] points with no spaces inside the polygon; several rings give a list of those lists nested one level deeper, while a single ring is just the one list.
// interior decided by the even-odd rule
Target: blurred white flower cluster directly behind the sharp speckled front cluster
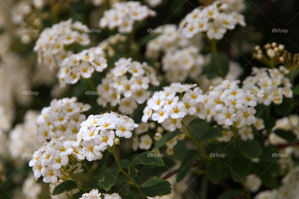
[{"label": "blurred white flower cluster directly behind the sharp speckled front cluster", "polygon": [[74,140],[86,116],[81,114],[91,108],[89,104],[77,102],[76,97],[53,99],[50,107],[41,110],[37,118],[37,137],[40,143],[51,138],[67,136]]}]

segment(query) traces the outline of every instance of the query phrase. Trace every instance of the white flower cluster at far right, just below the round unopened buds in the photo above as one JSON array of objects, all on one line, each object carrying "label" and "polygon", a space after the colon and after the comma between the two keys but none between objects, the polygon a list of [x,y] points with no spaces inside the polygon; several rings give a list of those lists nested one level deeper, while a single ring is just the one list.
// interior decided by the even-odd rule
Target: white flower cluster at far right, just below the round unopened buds
[{"label": "white flower cluster at far right, just below the round unopened buds", "polygon": [[289,70],[280,66],[279,69],[252,68],[252,76],[244,79],[243,89],[250,90],[259,104],[281,104],[283,96],[293,97],[290,79],[285,77]]}]

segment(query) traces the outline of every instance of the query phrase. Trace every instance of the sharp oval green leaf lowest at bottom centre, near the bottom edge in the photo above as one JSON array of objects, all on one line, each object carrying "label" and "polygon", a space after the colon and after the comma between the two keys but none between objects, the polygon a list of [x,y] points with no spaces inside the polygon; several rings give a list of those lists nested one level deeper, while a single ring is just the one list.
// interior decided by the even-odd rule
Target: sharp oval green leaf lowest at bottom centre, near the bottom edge
[{"label": "sharp oval green leaf lowest at bottom centre, near the bottom edge", "polygon": [[171,184],[163,179],[148,180],[140,186],[140,192],[148,197],[168,195],[171,193]]}]

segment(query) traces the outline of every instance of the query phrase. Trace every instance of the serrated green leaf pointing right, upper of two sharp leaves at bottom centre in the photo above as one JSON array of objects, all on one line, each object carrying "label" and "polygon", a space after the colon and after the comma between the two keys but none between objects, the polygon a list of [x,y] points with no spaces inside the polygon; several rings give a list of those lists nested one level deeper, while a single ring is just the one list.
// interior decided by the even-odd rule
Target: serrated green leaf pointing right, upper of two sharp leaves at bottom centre
[{"label": "serrated green leaf pointing right, upper of two sharp leaves at bottom centre", "polygon": [[159,157],[158,154],[152,151],[145,151],[141,154],[138,154],[130,163],[128,163],[124,168],[128,168],[130,165],[135,164],[146,164],[146,165],[156,165],[163,167],[163,159]]}]

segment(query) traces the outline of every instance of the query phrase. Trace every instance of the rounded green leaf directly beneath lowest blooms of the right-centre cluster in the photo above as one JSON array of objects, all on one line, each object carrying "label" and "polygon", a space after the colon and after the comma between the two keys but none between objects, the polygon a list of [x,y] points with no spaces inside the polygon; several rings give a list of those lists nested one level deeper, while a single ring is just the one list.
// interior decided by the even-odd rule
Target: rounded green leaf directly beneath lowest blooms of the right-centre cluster
[{"label": "rounded green leaf directly beneath lowest blooms of the right-centre cluster", "polygon": [[249,159],[258,158],[263,152],[261,145],[256,140],[240,140],[239,149],[241,154]]}]

